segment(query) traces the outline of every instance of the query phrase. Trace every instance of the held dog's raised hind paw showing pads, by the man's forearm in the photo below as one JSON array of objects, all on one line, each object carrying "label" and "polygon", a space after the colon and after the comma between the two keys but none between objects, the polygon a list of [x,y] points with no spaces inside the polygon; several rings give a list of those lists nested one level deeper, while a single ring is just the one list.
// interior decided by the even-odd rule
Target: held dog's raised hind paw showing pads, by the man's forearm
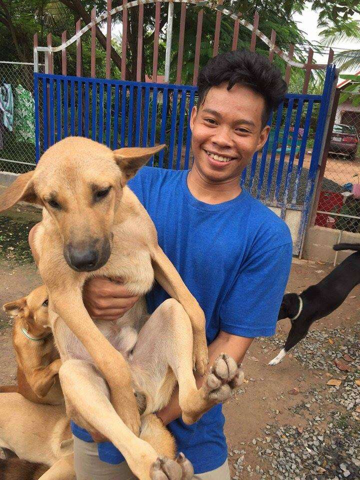
[{"label": "held dog's raised hind paw showing pads, by the man's forearm", "polygon": [[243,378],[243,371],[235,360],[226,353],[221,353],[204,380],[203,392],[214,403],[224,402],[232,396]]}]

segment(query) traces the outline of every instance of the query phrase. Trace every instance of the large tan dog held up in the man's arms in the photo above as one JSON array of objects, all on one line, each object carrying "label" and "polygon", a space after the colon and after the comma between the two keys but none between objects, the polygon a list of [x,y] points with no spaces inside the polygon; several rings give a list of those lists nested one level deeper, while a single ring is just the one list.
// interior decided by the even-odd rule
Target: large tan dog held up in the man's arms
[{"label": "large tan dog held up in the man's arms", "polygon": [[[182,418],[192,423],[228,398],[241,374],[232,359],[221,357],[196,387],[193,364],[201,374],[207,366],[203,312],[126,187],[161,148],[111,151],[89,139],[65,138],[7,188],[0,211],[19,200],[44,207],[34,242],[69,416],[112,441],[140,480],[187,480],[192,473],[183,456],[177,462],[158,459],[159,453],[171,457],[172,452],[159,451],[156,438],[163,428],[148,414],[167,404],[177,381]],[[81,295],[93,275],[120,276],[133,295],[144,295],[155,278],[171,299],[149,318],[142,299],[112,326],[94,324]],[[133,390],[145,399],[141,419]]]}]

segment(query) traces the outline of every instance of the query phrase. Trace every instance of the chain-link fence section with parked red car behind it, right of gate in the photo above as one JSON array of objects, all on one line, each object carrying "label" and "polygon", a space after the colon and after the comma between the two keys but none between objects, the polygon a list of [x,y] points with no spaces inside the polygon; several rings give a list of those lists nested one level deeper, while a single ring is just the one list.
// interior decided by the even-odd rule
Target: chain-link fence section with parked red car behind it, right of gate
[{"label": "chain-link fence section with parked red car behind it, right of gate", "polygon": [[338,103],[315,225],[360,233],[360,93]]}]

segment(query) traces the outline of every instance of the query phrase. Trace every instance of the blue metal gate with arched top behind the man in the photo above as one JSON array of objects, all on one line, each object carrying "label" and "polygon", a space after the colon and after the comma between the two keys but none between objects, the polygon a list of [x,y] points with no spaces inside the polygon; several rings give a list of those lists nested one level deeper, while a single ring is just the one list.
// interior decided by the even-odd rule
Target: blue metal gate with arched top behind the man
[{"label": "blue metal gate with arched top behind the man", "polygon": [[[145,1],[145,3],[150,2]],[[132,1],[126,4],[126,8],[139,3],[143,2]],[[187,0],[185,3],[199,4],[193,0],[190,2]],[[108,7],[109,5],[111,5],[110,0],[108,0]],[[332,64],[312,64],[311,51],[309,51],[307,63],[294,61],[290,58],[291,51],[287,55],[276,47],[275,35],[272,34],[269,40],[257,29],[258,16],[256,19],[256,15],[254,24],[251,25],[220,8],[221,5],[205,2],[201,2],[200,5],[216,9],[217,12],[220,11],[221,14],[234,18],[234,36],[236,22],[238,24],[242,22],[246,28],[252,29],[252,37],[260,38],[270,47],[270,56],[276,53],[286,61],[285,79],[287,77],[287,81],[291,65],[305,69],[305,84],[308,84],[311,68],[318,67],[326,71],[321,95],[308,94],[307,84],[304,84],[302,93],[288,93],[278,109],[271,113],[268,120],[271,133],[262,151],[255,153],[241,178],[241,184],[253,196],[263,201],[288,223],[293,238],[293,254],[297,255],[301,248],[322,154],[326,118],[336,75],[335,67]],[[58,47],[52,47],[49,39],[47,47],[38,47],[35,40],[34,60],[38,61],[38,52],[44,52],[46,64],[46,73],[38,73],[36,61],[34,61],[36,161],[41,152],[55,141],[68,135],[82,135],[106,143],[110,148],[166,143],[166,152],[161,152],[155,160],[151,159],[150,165],[175,169],[191,166],[189,112],[196,102],[195,85],[83,77],[79,75],[80,68],[76,69],[77,76],[52,73],[52,59],[56,51],[61,51],[63,60],[63,53],[69,44],[75,41],[78,44],[80,36],[90,29],[93,31],[95,23],[108,19],[111,14],[122,8],[125,7],[112,10],[108,8],[107,13],[94,18],[82,29],[78,24],[76,35]],[[170,20],[171,2],[168,13],[168,20]],[[109,26],[109,22],[107,25]],[[214,48],[216,35],[218,47],[216,30],[218,30],[217,26],[214,33]],[[165,77],[166,68],[169,68],[168,56],[171,49],[172,32],[170,37],[168,32],[169,30],[167,30]],[[253,41],[250,49],[254,50]],[[195,51],[195,63],[197,53]],[[106,58],[110,61],[108,51]],[[62,71],[66,73],[66,67],[64,71],[63,64],[62,61]],[[106,72],[108,70],[106,66]],[[178,79],[178,72],[176,77]],[[317,110],[315,105],[318,105],[318,113],[314,121],[314,110]],[[307,142],[310,128],[314,125],[313,147],[309,159],[306,154]]]}]

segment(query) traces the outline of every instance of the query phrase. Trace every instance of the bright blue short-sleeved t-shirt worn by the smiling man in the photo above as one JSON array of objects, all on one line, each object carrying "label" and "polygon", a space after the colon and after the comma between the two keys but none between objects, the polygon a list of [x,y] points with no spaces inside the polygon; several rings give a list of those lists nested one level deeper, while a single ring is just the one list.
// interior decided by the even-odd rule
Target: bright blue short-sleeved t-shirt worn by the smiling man
[{"label": "bright blue short-sleeved t-shirt worn by the smiling man", "polygon": [[[220,330],[245,337],[273,335],[291,264],[287,225],[246,190],[217,205],[197,200],[187,187],[187,174],[143,167],[129,187],[154,222],[159,245],[203,309],[208,343]],[[149,312],[166,298],[155,284],[147,295]],[[223,424],[217,405],[193,425],[181,419],[167,425],[195,473],[226,460]],[[76,436],[91,441],[85,430],[72,427]],[[110,463],[123,459],[109,442],[100,443],[98,451]]]}]

